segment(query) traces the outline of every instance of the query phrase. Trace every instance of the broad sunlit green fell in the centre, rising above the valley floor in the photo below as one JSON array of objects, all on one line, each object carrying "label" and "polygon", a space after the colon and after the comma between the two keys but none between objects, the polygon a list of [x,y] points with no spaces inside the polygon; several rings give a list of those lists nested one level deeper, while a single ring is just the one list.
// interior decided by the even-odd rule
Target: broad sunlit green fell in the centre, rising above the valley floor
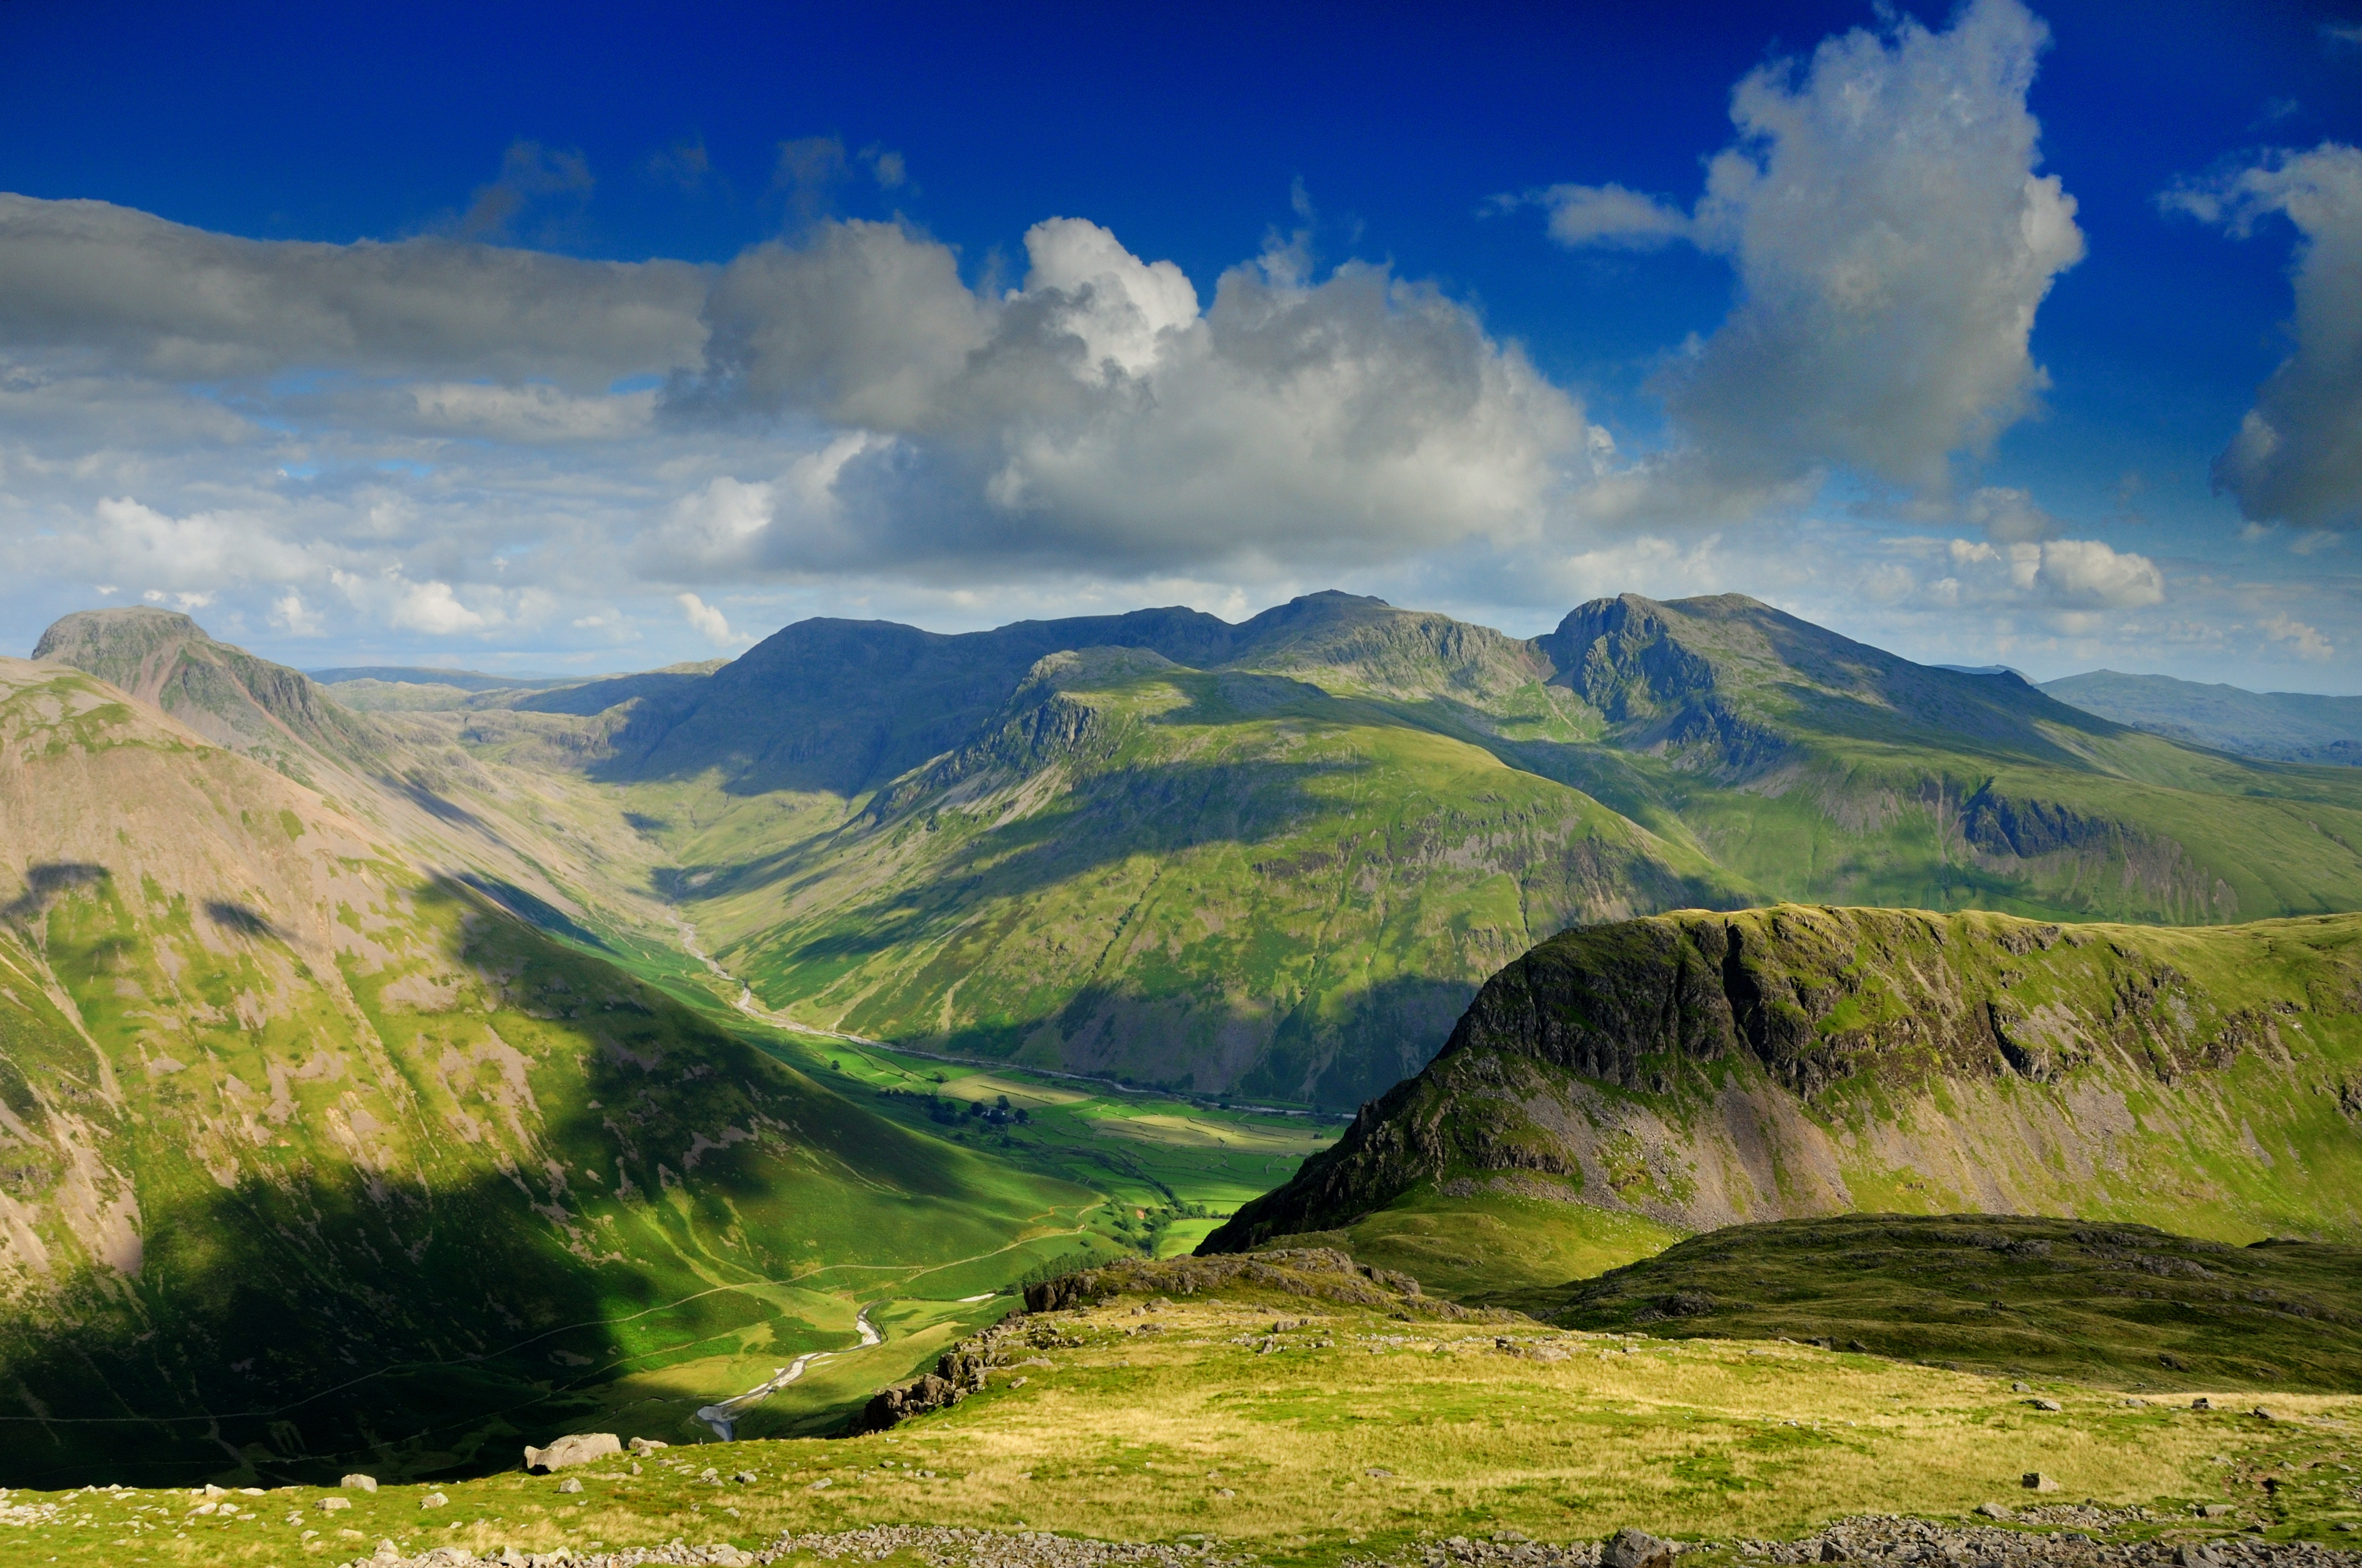
[{"label": "broad sunlit green fell in the centre, rising above the valley floor", "polygon": [[[668,812],[666,812],[668,815]],[[673,883],[770,1006],[924,1048],[1351,1105],[1573,923],[1743,902],[1694,850],[1386,708],[1146,649],[1037,661],[801,845]]]}]

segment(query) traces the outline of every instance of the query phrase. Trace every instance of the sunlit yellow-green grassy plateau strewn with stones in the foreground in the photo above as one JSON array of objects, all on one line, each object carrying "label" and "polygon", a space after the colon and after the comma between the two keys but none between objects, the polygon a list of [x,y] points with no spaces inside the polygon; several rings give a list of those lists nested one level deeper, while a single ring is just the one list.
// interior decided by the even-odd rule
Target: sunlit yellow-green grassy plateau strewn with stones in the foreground
[{"label": "sunlit yellow-green grassy plateau strewn with stones in the foreground", "polygon": [[[1287,1292],[1148,1294],[1186,1285],[1188,1268],[1134,1266],[1131,1289],[1018,1322],[980,1393],[883,1433],[676,1445],[560,1476],[376,1492],[14,1492],[0,1554],[583,1556],[909,1523],[1212,1540],[1228,1556],[1330,1563],[1455,1535],[1571,1542],[1639,1525],[1729,1561],[1833,1518],[1960,1518],[1979,1504],[2090,1500],[2116,1514],[2069,1514],[2133,1542],[2341,1542],[2338,1525],[2362,1521],[2353,1396],[2012,1386],[1805,1344],[1568,1332],[1394,1292],[1292,1294],[1304,1275],[1283,1270],[1266,1273]],[[2213,1410],[2190,1407],[2199,1393]],[[2055,1478],[2057,1500],[2024,1492],[2027,1471]],[[569,1481],[581,1490],[560,1490]],[[2225,1507],[2201,1518],[2199,1504]],[[2008,1528],[2045,1533],[2048,1514]]]}]

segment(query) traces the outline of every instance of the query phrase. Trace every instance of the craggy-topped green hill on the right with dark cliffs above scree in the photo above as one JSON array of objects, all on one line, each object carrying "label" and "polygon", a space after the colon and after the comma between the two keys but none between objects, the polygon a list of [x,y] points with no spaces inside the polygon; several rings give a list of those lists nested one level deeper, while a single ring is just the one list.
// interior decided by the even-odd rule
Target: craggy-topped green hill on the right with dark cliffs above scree
[{"label": "craggy-topped green hill on the right with dark cliffs above scree", "polygon": [[1507,966],[1207,1249],[1490,1197],[1672,1233],[1897,1209],[2357,1240],[2357,1124],[2362,916],[1682,912]]}]

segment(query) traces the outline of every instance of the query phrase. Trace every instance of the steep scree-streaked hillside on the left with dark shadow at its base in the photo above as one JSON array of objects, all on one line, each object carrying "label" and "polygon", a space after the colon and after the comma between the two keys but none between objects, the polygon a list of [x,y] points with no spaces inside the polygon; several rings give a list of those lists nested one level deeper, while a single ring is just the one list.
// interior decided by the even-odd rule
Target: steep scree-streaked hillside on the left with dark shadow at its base
[{"label": "steep scree-streaked hillside on the left with dark shadow at its base", "polygon": [[0,661],[0,900],[5,1485],[513,1466],[1094,1202],[59,664]]}]

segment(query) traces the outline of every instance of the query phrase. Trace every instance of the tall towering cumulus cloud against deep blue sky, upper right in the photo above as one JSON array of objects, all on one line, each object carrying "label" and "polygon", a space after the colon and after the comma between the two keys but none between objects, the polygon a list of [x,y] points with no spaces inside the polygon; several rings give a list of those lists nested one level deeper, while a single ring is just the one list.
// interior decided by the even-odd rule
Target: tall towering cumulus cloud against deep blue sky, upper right
[{"label": "tall towering cumulus cloud against deep blue sky, upper right", "polygon": [[1613,184],[1540,196],[1564,243],[1736,264],[1736,309],[1663,380],[1689,465],[1753,494],[1826,465],[1942,491],[2034,409],[2034,312],[2083,257],[2074,198],[2036,175],[2045,40],[2017,0],[1852,31],[1738,83],[1691,215]]}]

